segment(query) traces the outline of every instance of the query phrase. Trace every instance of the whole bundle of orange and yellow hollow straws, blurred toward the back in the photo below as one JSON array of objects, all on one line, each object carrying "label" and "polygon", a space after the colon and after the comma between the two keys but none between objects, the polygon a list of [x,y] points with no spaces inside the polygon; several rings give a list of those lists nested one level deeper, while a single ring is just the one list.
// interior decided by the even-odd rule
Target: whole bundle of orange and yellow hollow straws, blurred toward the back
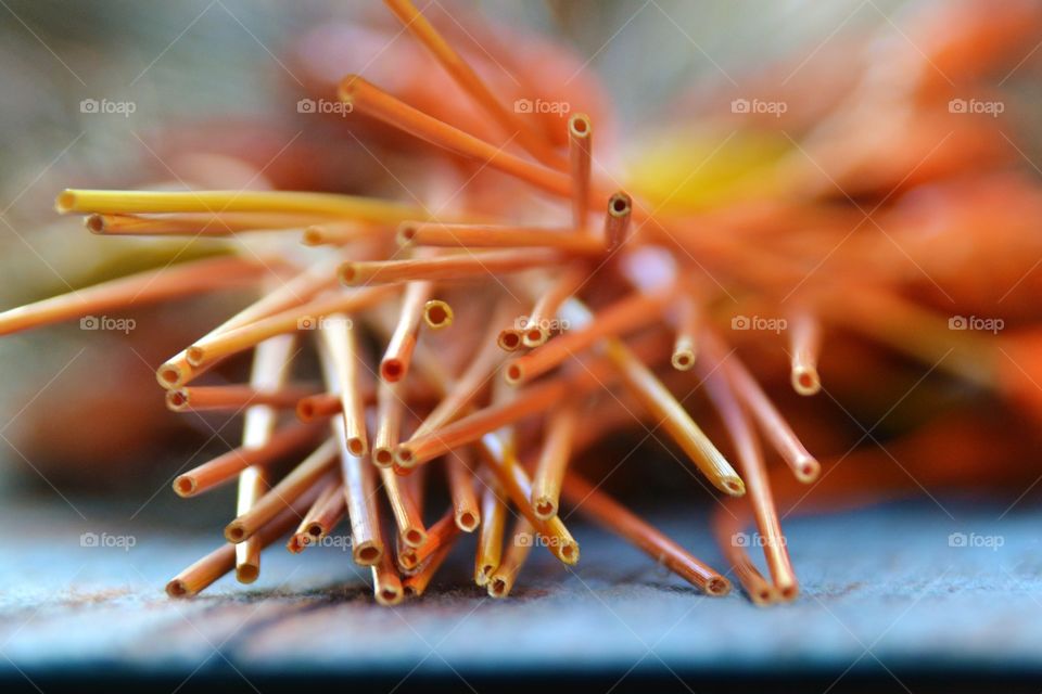
[{"label": "whole bundle of orange and yellow hollow straws, blurred toward the back", "polygon": [[[1039,26],[1035,8],[931,5],[906,26],[915,51],[843,65],[843,87],[831,85],[815,107],[790,114],[799,143],[788,138],[796,146],[770,164],[775,184],[762,195],[677,210],[670,191],[656,196],[637,185],[627,194],[594,166],[589,116],[555,124],[519,112],[408,0],[386,4],[469,99],[436,107],[456,108],[466,116],[457,121],[505,139],[475,137],[356,75],[340,82],[351,118],[411,136],[432,178],[445,170],[437,157],[462,158],[476,163],[475,178],[498,176],[494,184],[465,188],[442,206],[452,211],[437,214],[335,193],[66,190],[58,210],[87,215],[98,234],[246,240],[254,231],[270,239],[271,230],[304,229],[320,258],[305,262],[270,246],[258,253],[247,241],[238,253],[0,314],[7,333],[131,304],[262,288],[256,303],[157,371],[171,410],[244,414],[240,448],[174,481],[186,498],[233,480],[239,491],[227,543],[170,580],[171,596],[194,595],[232,569],[253,581],[264,548],[289,535],[289,550],[302,552],[346,517],[353,558],[371,567],[379,603],[421,594],[468,534],[476,536],[474,581],[503,597],[533,548],[579,563],[561,504],[706,593],[728,593],[724,575],[609,497],[607,473],[592,478],[570,467],[626,428],[668,437],[674,458],[723,494],[713,526],[732,564],[725,574],[758,604],[792,600],[799,590],[780,502],[821,488],[827,494],[815,507],[838,506],[1022,476],[1011,461],[1037,448],[1030,427],[995,421],[979,403],[1038,411],[1039,338],[952,321],[989,310],[997,319],[1002,310],[1008,325],[1031,327],[1031,264],[1042,237],[1028,220],[1039,219],[1042,194],[1009,170],[1000,121],[950,103],[986,89],[988,68],[1015,63],[1009,49]],[[916,33],[938,24],[940,34]],[[945,72],[973,79],[956,86],[939,78]],[[537,86],[538,76],[525,83]],[[763,316],[787,326],[787,343],[744,330]],[[904,363],[895,355],[969,386],[957,407],[936,408],[895,452],[856,448],[872,436],[865,429],[842,457],[850,462],[821,475],[776,406],[779,388],[763,385],[763,365],[777,362],[759,357],[787,355],[790,387],[815,395],[826,327],[837,335],[837,388],[892,391],[894,363]],[[292,375],[294,357],[309,347],[321,363],[320,387]],[[247,384],[195,383],[246,350]],[[759,351],[744,361],[742,350]],[[715,414],[696,422],[701,394]],[[722,423],[724,441],[703,433],[707,417]],[[825,429],[826,420],[804,424]],[[824,440],[846,450],[847,442]],[[770,473],[761,442],[782,462]],[[285,459],[302,462],[279,477]],[[450,504],[427,525],[434,471]],[[768,577],[749,543],[735,541],[752,522]]]}]

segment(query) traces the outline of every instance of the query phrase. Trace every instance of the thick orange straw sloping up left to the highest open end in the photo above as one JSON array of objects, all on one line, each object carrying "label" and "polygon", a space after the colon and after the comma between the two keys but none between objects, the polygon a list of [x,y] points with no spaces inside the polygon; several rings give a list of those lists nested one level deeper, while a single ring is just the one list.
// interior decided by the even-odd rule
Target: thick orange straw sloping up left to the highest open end
[{"label": "thick orange straw sloping up left to the highest open end", "polygon": [[454,128],[398,101],[357,75],[348,75],[340,82],[340,98],[353,104],[355,112],[404,130],[433,145],[482,162],[559,197],[571,195],[572,182],[567,174],[523,159],[503,147]]}]

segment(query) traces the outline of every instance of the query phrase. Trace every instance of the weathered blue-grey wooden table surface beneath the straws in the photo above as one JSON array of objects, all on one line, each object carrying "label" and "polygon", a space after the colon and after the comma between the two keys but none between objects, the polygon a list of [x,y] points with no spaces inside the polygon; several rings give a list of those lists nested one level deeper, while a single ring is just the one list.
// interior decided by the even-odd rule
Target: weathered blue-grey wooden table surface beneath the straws
[{"label": "weathered blue-grey wooden table surface beneath the straws", "polygon": [[[876,672],[895,685],[930,668],[1042,669],[1042,512],[1029,504],[1001,519],[1006,504],[966,500],[792,519],[803,594],[766,609],[739,591],[704,597],[587,526],[574,529],[577,569],[537,552],[507,601],[466,584],[469,545],[428,595],[394,608],[373,604],[368,570],[332,547],[266,552],[253,586],[226,578],[199,599],[174,601],[165,581],[219,540],[216,525],[178,526],[165,511],[166,522],[77,509],[86,519],[61,502],[8,502],[0,512],[4,681],[100,669],[171,682],[224,673],[251,687],[289,673],[392,685],[442,678],[484,691],[507,671],[597,674],[609,684],[779,669],[827,684]],[[724,567],[700,512],[657,520]],[[82,547],[84,532],[107,534],[99,544],[109,547]],[[953,532],[963,535],[953,542]],[[123,536],[134,545],[113,539]]]}]

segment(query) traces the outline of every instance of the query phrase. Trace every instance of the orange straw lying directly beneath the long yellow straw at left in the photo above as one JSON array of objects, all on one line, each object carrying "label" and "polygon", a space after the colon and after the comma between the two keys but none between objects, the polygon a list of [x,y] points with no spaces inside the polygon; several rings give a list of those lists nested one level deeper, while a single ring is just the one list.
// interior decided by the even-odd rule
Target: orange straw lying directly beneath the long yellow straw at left
[{"label": "orange straw lying directly beneath the long yellow straw at left", "polygon": [[314,224],[319,215],[218,213],[183,215],[88,215],[84,226],[102,236],[232,236],[243,231],[285,231]]}]

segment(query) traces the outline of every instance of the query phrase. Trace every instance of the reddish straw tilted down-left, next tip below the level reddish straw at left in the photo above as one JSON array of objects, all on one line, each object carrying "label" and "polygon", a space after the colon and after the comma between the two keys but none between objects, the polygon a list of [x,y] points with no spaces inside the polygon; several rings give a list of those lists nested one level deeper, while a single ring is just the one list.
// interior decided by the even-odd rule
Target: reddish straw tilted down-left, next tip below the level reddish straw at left
[{"label": "reddish straw tilted down-left, next tip below the level reddish straw at left", "polygon": [[194,497],[231,481],[247,467],[267,467],[314,441],[317,432],[306,424],[277,429],[260,446],[241,446],[178,475],[174,479],[174,491],[179,497]]}]

